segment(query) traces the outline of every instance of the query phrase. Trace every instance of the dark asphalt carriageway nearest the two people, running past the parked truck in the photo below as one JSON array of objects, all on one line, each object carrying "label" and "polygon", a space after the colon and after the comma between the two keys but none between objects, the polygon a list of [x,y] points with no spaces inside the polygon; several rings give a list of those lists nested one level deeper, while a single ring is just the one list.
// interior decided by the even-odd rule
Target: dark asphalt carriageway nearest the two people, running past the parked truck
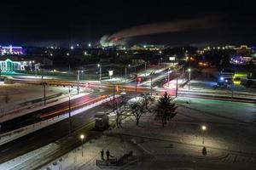
[{"label": "dark asphalt carriageway nearest the two people, running past the parked truck", "polygon": [[[94,116],[98,111],[106,111],[106,105],[99,105],[84,113],[72,116],[72,129],[84,127],[94,121]],[[9,161],[17,156],[36,150],[46,144],[53,143],[57,139],[67,136],[69,133],[69,120],[65,119],[49,127],[40,129],[34,133],[27,134],[20,139],[15,139],[7,144],[0,145],[0,163]]]}]

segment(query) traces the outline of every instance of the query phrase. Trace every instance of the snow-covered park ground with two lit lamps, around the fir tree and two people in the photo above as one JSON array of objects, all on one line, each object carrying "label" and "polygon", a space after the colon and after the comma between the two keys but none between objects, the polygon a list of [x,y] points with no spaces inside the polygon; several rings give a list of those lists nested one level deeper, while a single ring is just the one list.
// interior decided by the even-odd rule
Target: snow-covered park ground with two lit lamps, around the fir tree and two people
[{"label": "snow-covered park ground with two lit lamps, around the fir tree and two people", "polygon": [[[42,169],[100,169],[100,150],[115,157],[133,150],[137,164],[121,169],[241,169],[256,163],[256,107],[253,104],[210,99],[175,99],[177,116],[166,127],[144,115],[136,126],[132,117],[91,143],[52,161]],[[204,133],[202,125],[207,127]],[[207,147],[207,156],[202,148]],[[196,167],[196,168],[195,168]],[[107,169],[119,169],[108,167]]]}]

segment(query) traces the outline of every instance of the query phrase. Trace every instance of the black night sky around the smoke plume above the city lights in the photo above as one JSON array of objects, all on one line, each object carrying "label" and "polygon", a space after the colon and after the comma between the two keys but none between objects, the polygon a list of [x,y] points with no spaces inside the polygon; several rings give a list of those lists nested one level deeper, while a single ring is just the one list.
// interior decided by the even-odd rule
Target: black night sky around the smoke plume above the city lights
[{"label": "black night sky around the smoke plume above the city lights", "polygon": [[[4,1],[0,44],[69,45],[99,41],[130,27],[183,20],[205,20],[180,31],[129,37],[130,43],[205,45],[254,44],[252,1]],[[206,21],[207,20],[207,21]],[[208,26],[210,23],[211,26]],[[145,28],[147,29],[147,28]],[[129,30],[128,30],[129,31]]]}]

